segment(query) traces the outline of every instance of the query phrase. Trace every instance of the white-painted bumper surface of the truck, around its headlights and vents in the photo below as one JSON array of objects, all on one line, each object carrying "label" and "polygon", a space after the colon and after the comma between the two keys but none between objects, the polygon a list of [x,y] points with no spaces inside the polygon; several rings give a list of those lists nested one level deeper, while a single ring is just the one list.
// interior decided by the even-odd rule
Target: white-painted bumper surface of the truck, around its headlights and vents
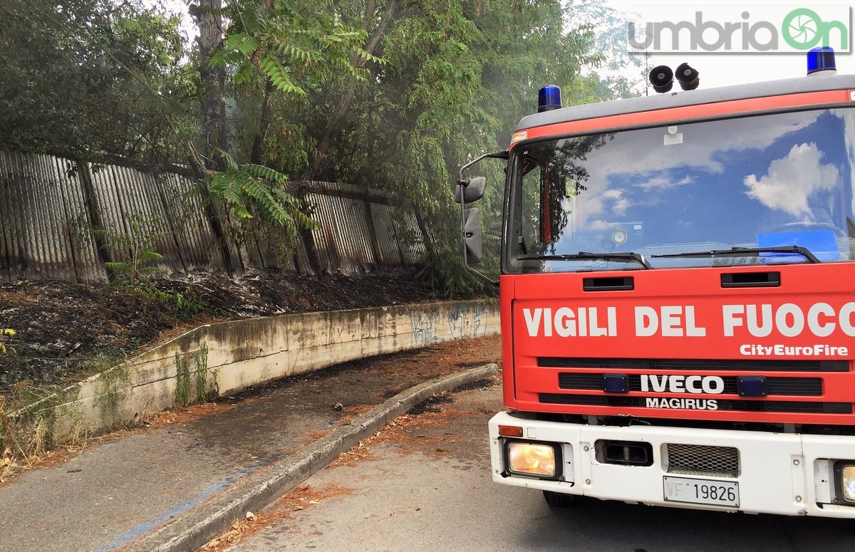
[{"label": "white-painted bumper surface of the truck, around its headlights and vents", "polygon": [[[560,480],[507,473],[504,466],[507,439],[499,437],[499,425],[522,426],[523,437],[516,440],[557,443],[563,455]],[[595,452],[600,440],[650,443],[652,465],[600,462]],[[669,473],[664,458],[669,443],[737,449],[738,473],[731,477]],[[855,506],[834,503],[833,473],[834,461],[855,463],[855,437],[640,425],[591,426],[526,420],[503,412],[490,420],[490,456],[492,479],[501,484],[658,506],[855,519]],[[666,500],[664,484],[695,480],[699,483],[718,480],[723,482],[722,487],[736,489],[738,506],[702,503],[702,497],[697,503]]]}]

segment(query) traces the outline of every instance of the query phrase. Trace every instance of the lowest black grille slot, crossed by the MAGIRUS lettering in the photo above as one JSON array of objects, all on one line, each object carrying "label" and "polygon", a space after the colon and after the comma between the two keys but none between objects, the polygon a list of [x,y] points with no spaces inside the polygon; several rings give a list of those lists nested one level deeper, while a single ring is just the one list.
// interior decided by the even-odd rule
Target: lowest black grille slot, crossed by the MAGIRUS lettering
[{"label": "lowest black grille slot, crossed by the MAGIRUS lettering", "polygon": [[[540,393],[544,404],[579,404],[587,406],[618,408],[695,408],[707,397],[686,396],[685,398],[658,396],[614,396],[614,395],[565,395],[563,393]],[[693,406],[688,407],[687,401]],[[731,400],[715,398],[717,410],[738,412],[793,412],[806,414],[852,414],[852,402],[801,402],[764,400]]]}]

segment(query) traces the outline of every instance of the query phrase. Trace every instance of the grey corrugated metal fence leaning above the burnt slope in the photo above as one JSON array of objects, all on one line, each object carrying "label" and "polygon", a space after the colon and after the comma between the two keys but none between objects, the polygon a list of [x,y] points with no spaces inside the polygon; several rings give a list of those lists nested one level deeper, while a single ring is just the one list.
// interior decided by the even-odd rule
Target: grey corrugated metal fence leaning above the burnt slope
[{"label": "grey corrugated metal fence leaning above the burnt slope", "polygon": [[105,244],[153,247],[164,256],[164,275],[228,267],[372,272],[417,264],[425,255],[416,211],[400,212],[378,191],[293,183],[320,227],[282,259],[272,240],[251,237],[237,245],[217,236],[192,186],[174,173],[0,152],[0,281],[106,281],[104,262],[122,255]]}]

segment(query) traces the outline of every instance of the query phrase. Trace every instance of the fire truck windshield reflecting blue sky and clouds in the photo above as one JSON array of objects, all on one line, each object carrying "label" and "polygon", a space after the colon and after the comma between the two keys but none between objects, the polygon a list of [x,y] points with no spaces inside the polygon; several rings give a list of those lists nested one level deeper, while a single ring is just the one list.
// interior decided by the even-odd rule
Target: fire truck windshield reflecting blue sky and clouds
[{"label": "fire truck windshield reflecting blue sky and clouds", "polygon": [[852,261],[855,109],[522,142],[509,193],[510,273]]}]

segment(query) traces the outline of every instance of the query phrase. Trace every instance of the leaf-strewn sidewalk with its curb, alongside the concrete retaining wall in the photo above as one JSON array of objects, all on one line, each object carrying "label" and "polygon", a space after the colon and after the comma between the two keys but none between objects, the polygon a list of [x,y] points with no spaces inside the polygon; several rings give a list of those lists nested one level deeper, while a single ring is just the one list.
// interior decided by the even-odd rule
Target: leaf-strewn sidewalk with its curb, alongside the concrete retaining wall
[{"label": "leaf-strewn sidewalk with its curb, alongside the concrete retaining wall", "polygon": [[499,350],[479,338],[354,361],[92,445],[0,487],[0,551],[198,549],[416,403],[489,377]]}]

